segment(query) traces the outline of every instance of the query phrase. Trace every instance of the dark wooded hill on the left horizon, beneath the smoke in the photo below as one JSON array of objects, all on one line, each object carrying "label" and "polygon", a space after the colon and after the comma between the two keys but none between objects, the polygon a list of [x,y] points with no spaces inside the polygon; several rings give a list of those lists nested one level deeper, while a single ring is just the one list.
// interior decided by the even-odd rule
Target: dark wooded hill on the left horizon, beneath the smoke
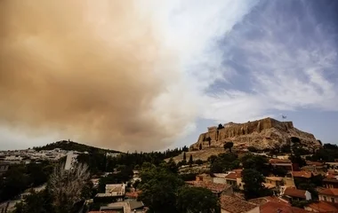
[{"label": "dark wooded hill on the left horizon, beneath the smoke", "polygon": [[121,153],[116,150],[102,149],[102,148],[98,148],[94,146],[87,146],[87,145],[79,144],[79,143],[76,143],[70,140],[60,140],[52,144],[47,144],[46,146],[33,147],[33,149],[36,151],[52,150],[55,148],[60,148],[60,149],[69,150],[69,151],[73,150],[77,152],[88,152],[88,153],[93,153],[93,152]]}]

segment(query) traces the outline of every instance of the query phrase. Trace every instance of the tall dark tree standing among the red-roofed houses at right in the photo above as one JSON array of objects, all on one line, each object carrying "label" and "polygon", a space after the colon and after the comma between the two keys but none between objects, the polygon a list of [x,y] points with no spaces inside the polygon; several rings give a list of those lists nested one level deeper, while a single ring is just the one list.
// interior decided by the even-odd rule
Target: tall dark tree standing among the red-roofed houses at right
[{"label": "tall dark tree standing among the red-roofed houses at right", "polygon": [[254,199],[271,194],[271,191],[262,185],[264,177],[257,170],[245,169],[242,172],[242,181],[244,185],[245,199]]}]

